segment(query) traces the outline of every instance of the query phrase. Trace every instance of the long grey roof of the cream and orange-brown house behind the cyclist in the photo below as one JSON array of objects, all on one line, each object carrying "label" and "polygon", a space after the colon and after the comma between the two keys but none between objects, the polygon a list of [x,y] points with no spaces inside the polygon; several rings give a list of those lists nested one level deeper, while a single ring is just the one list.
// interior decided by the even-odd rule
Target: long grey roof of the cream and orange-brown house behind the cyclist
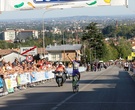
[{"label": "long grey roof of the cream and orange-brown house behind the cyclist", "polygon": [[82,44],[66,44],[66,45],[49,45],[46,47],[46,51],[63,51],[63,50],[80,50]]}]

